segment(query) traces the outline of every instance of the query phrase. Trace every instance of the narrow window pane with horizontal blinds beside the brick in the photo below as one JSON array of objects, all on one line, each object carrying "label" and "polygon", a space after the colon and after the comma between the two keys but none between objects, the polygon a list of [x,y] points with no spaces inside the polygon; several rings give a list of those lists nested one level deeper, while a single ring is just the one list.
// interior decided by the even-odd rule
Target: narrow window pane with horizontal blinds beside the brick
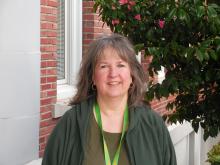
[{"label": "narrow window pane with horizontal blinds beside the brick", "polygon": [[57,75],[65,79],[65,0],[58,0],[57,14]]}]

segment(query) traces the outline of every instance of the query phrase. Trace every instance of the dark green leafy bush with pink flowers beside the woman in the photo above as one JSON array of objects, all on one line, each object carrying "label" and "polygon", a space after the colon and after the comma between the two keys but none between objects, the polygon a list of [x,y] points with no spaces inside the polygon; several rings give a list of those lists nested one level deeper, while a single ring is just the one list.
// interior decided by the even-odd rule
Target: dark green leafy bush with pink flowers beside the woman
[{"label": "dark green leafy bush with pink flowers beside the woman", "polygon": [[146,98],[177,95],[168,104],[170,122],[204,128],[204,139],[220,131],[220,1],[95,0],[113,32],[123,34],[136,51],[152,55],[149,73],[166,69],[161,84],[149,83]]}]

